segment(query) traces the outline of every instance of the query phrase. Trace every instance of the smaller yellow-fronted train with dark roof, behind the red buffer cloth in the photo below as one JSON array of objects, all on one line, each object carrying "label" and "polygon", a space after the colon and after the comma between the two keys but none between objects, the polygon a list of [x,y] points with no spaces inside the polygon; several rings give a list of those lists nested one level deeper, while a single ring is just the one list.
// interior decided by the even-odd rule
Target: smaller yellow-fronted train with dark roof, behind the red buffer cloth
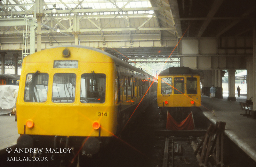
[{"label": "smaller yellow-fronted train with dark roof, behind the red buffer cloth", "polygon": [[199,74],[188,67],[171,67],[160,72],[157,105],[164,119],[168,111],[177,122],[181,122],[201,106]]}]

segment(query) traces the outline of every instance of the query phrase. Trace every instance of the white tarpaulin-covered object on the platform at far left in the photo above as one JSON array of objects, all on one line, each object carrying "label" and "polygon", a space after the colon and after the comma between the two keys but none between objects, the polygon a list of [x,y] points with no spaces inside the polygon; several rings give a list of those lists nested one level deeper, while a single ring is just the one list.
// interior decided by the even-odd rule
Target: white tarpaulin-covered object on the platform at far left
[{"label": "white tarpaulin-covered object on the platform at far left", "polygon": [[19,86],[0,85],[0,109],[12,109],[15,106],[15,90],[19,90]]}]

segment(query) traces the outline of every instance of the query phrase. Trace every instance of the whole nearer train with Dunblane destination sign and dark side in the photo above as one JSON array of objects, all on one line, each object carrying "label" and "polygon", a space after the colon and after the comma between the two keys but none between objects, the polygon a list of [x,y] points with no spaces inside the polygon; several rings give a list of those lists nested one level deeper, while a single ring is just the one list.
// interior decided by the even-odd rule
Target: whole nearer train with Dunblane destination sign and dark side
[{"label": "whole nearer train with Dunblane destination sign and dark side", "polygon": [[156,99],[153,87],[143,98],[151,83],[139,68],[90,47],[31,54],[20,76],[17,146],[93,155],[124,127],[137,104],[148,106],[153,92]]}]

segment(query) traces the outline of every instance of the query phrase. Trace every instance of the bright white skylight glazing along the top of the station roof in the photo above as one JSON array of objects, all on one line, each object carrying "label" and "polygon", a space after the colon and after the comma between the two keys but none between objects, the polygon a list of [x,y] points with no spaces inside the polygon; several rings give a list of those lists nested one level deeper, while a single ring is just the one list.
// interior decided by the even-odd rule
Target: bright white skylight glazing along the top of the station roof
[{"label": "bright white skylight glazing along the top of the station roof", "polygon": [[[17,6],[17,3],[20,4]],[[2,0],[0,4],[9,5],[8,10],[12,10],[15,12],[21,12],[26,10],[34,9],[34,3],[33,0]],[[16,6],[12,6],[16,4]],[[90,12],[90,14],[87,15],[109,15],[109,14],[134,14],[134,11],[136,11],[138,14],[143,13],[149,13],[153,14],[153,10],[147,10],[143,9],[141,11],[134,10],[132,8],[150,8],[152,7],[149,0],[84,0],[84,1],[77,1],[77,0],[44,0],[44,9],[43,10],[52,10],[56,6],[57,10],[73,10],[73,9],[119,9],[119,11],[122,11],[122,9],[126,8],[128,10],[122,11],[122,12]],[[131,11],[129,11],[129,8]],[[80,14],[83,15],[83,14]]]}]

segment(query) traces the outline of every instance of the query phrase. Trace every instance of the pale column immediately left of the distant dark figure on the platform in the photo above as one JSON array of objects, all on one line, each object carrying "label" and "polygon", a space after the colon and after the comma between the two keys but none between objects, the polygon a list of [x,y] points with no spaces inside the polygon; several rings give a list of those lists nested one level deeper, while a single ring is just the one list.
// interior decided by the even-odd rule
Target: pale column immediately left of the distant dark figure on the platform
[{"label": "pale column immediately left of the distant dark figure on the platform", "polygon": [[235,96],[235,69],[229,69],[228,70],[228,100],[236,101],[236,96]]}]

